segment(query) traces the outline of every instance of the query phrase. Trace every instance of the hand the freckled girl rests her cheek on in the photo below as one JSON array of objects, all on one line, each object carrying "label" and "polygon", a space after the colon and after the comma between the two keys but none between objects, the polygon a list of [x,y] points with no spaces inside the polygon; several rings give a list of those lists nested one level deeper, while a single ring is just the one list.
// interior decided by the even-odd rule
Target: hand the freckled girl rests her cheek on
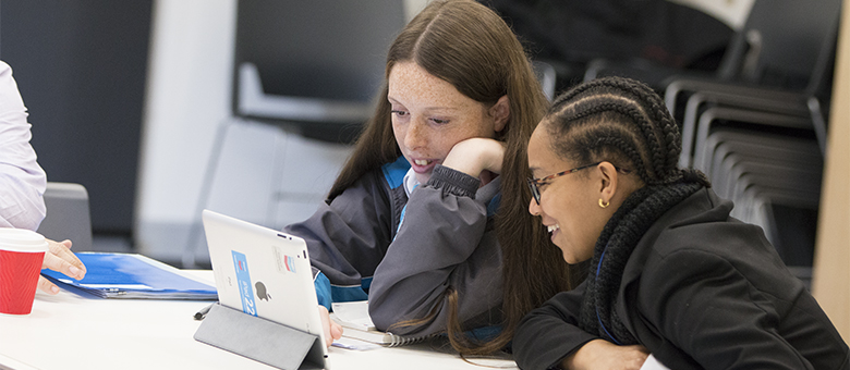
[{"label": "hand the freckled girl rests her cheek on", "polygon": [[456,144],[446,156],[442,165],[470,176],[481,177],[485,170],[496,174],[501,173],[503,158],[505,144],[490,138],[473,137]]}]

